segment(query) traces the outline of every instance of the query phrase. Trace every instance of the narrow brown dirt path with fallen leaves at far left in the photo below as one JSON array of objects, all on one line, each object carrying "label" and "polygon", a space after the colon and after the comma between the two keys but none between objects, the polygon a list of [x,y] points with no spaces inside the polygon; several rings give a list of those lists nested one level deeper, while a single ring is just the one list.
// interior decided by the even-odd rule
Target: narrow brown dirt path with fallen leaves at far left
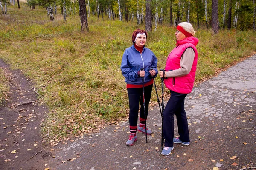
[{"label": "narrow brown dirt path with fallen leaves at far left", "polygon": [[[40,105],[32,83],[0,59],[9,78],[9,100],[0,106],[0,169],[42,170],[51,156],[40,136],[47,108]],[[29,102],[28,104],[25,104]]]}]

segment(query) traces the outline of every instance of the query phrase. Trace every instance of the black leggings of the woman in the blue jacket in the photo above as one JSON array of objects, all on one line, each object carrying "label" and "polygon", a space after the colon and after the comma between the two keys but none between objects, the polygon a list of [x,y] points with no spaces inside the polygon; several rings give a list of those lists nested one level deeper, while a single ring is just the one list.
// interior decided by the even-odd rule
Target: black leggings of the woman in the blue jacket
[{"label": "black leggings of the woman in the blue jacket", "polygon": [[143,106],[143,88],[127,88],[129,97],[129,123],[130,126],[137,126],[138,122],[138,112],[140,106],[140,118],[147,119],[148,117],[148,103],[151,98],[153,84],[144,87],[145,93],[145,112],[144,116],[144,106]]}]

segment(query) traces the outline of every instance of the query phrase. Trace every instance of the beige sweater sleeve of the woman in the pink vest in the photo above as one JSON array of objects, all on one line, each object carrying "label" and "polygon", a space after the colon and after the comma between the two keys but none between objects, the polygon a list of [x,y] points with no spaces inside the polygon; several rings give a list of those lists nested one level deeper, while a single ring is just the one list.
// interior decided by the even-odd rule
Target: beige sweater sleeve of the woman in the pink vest
[{"label": "beige sweater sleeve of the woman in the pink vest", "polygon": [[193,65],[194,58],[195,51],[193,48],[187,48],[181,56],[180,68],[172,71],[166,71],[166,77],[181,77],[189,74]]}]

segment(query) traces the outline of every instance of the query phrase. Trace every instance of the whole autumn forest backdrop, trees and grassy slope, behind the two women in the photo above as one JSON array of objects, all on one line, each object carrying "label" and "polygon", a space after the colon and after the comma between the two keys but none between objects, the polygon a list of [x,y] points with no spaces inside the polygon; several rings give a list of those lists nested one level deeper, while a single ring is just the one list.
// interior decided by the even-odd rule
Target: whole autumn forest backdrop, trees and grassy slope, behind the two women
[{"label": "whole autumn forest backdrop, trees and grassy slope, behind the two women", "polygon": [[[0,1],[0,58],[34,82],[41,104],[49,108],[42,128],[49,139],[84,135],[128,118],[120,63],[134,29],[148,24],[147,4],[154,26],[146,47],[157,56],[159,69],[175,47],[175,25],[183,21],[192,23],[199,39],[196,83],[256,51],[254,0],[89,0],[84,1],[86,31],[80,1]],[[160,92],[159,77],[156,84]],[[9,100],[8,89],[0,69],[1,105]],[[153,92],[151,105],[156,101]]]}]

